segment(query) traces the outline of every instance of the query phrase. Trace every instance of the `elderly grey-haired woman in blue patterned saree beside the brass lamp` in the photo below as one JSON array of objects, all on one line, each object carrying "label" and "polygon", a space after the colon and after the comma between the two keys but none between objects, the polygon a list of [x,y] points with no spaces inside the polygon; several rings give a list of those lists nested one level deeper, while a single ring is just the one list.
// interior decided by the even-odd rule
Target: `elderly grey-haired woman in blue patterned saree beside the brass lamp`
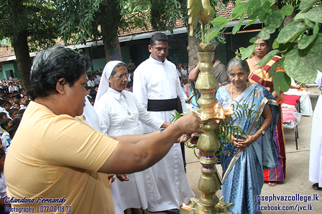
[{"label": "elderly grey-haired woman in blue patterned saree beside the brass lamp", "polygon": [[268,90],[259,84],[248,83],[249,67],[245,60],[232,59],[227,72],[231,84],[217,90],[218,102],[223,109],[246,104],[244,111],[250,111],[250,114],[248,112],[244,118],[232,115],[234,126],[240,126],[247,136],[233,135],[231,142],[222,148],[222,195],[225,202],[235,204],[230,210],[236,214],[261,213],[256,196],[260,196],[264,184],[263,168],[277,165],[272,134],[279,108]]}]

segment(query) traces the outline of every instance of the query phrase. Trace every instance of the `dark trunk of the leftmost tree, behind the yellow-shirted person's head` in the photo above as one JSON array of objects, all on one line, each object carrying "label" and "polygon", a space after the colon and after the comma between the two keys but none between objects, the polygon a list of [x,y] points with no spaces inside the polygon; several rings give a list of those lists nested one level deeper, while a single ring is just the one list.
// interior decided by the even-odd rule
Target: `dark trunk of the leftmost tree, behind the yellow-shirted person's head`
[{"label": "dark trunk of the leftmost tree, behind the yellow-shirted person's head", "polygon": [[12,39],[12,46],[16,56],[21,86],[28,90],[30,82],[31,60],[29,56],[29,46],[27,33],[20,32],[17,37]]}]

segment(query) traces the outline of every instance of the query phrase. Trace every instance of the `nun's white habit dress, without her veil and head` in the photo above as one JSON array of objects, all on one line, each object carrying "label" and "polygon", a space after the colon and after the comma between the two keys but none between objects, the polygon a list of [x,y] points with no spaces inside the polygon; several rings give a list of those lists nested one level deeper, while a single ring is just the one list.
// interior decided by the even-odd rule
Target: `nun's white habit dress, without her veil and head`
[{"label": "nun's white habit dress, without her veil and head", "polygon": [[[121,93],[109,88],[96,101],[95,110],[102,132],[108,136],[142,134],[139,119],[159,129],[163,120],[152,118],[131,92]],[[127,110],[131,115],[128,115]],[[127,208],[146,209],[149,201],[160,198],[151,168],[142,172],[127,174],[129,181],[116,179],[111,184],[111,193],[116,214],[123,214]]]}]

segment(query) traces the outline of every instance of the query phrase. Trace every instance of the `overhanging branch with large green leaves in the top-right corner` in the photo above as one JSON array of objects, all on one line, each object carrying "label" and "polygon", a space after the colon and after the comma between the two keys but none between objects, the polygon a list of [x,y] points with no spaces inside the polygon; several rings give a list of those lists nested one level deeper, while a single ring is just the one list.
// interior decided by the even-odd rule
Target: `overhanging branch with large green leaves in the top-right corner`
[{"label": "overhanging branch with large green leaves in the top-right corner", "polygon": [[[314,81],[316,70],[322,70],[322,61],[319,59],[322,51],[322,34],[318,33],[319,25],[322,23],[321,1],[302,0],[298,4],[298,1],[291,0],[247,2],[237,0],[236,7],[228,19],[219,16],[212,20],[214,27],[211,30],[211,38],[223,32],[228,22],[239,19],[232,30],[232,33],[236,34],[242,28],[246,15],[249,22],[243,29],[258,19],[263,23],[263,29],[258,37],[250,39],[249,42],[254,44],[240,48],[241,59],[251,56],[256,47],[255,42],[259,38],[267,40],[271,34],[279,32],[272,43],[273,50],[267,53],[258,66],[264,66],[274,55],[282,55],[280,67],[285,69],[288,76],[302,83]],[[290,23],[286,24],[286,19],[290,19]],[[282,91],[288,90],[289,77],[283,75],[283,78],[280,78],[278,73],[270,72],[274,85],[280,87]]]}]

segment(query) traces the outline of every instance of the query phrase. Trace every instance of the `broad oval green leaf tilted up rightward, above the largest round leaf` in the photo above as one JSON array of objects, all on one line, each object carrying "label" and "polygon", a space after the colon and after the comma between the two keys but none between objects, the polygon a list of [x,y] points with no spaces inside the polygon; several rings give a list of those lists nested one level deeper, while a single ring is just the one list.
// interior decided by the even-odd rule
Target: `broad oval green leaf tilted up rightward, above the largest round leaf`
[{"label": "broad oval green leaf tilted up rightward, above the largest round leaf", "polygon": [[277,38],[278,43],[286,43],[296,39],[300,36],[308,26],[301,21],[293,21],[286,25],[279,33]]}]

